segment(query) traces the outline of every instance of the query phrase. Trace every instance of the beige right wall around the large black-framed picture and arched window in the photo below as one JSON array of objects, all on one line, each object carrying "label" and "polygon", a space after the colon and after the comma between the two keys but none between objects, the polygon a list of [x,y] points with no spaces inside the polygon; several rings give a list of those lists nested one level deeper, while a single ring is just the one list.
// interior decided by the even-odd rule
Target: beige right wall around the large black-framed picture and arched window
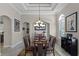
[{"label": "beige right wall around the large black-framed picture and arched window", "polygon": [[[57,29],[56,29],[56,33],[57,33],[57,37],[58,37],[58,44],[61,46],[61,39],[59,38],[59,31],[58,31],[58,19],[59,19],[59,16],[61,14],[64,14],[65,16],[67,15],[70,15],[74,12],[78,12],[78,23],[79,23],[79,4],[78,3],[73,3],[73,4],[68,4],[63,10],[61,10],[58,14],[57,14],[57,17],[56,17],[56,21],[57,21]],[[66,32],[66,33],[71,33],[73,34],[74,37],[78,38],[78,53],[79,53],[79,24],[77,26],[77,29],[78,31],[77,32]]]}]

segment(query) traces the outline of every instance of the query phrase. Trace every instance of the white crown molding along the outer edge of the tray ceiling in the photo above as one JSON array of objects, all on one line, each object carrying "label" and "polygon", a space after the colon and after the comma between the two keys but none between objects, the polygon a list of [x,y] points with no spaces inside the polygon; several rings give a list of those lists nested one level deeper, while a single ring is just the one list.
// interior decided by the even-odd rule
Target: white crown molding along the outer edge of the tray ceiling
[{"label": "white crown molding along the outer edge of the tray ceiling", "polygon": [[[67,3],[59,3],[56,4],[56,6],[54,7],[53,10],[47,10],[47,11],[40,11],[41,15],[51,15],[51,14],[57,14],[59,13],[65,6],[67,5]],[[33,11],[33,10],[27,10],[26,6],[24,4],[22,4],[22,6],[24,7],[24,9],[26,11],[21,12],[20,10],[18,10],[15,6],[13,6],[13,4],[10,4],[10,6],[19,14],[21,15],[26,15],[26,14],[30,14],[30,15],[38,15],[38,10],[37,11]],[[51,7],[52,8],[52,7]]]}]

